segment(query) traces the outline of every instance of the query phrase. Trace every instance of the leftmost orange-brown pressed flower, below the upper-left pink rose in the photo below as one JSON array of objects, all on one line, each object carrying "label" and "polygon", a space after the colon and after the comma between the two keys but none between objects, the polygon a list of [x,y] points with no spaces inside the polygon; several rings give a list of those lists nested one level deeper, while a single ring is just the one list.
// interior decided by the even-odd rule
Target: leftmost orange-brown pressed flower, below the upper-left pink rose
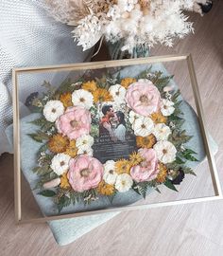
[{"label": "leftmost orange-brown pressed flower, below the upper-left pink rose", "polygon": [[48,148],[53,153],[62,153],[66,150],[66,147],[69,145],[68,137],[63,137],[61,135],[54,135],[50,137],[48,141]]}]

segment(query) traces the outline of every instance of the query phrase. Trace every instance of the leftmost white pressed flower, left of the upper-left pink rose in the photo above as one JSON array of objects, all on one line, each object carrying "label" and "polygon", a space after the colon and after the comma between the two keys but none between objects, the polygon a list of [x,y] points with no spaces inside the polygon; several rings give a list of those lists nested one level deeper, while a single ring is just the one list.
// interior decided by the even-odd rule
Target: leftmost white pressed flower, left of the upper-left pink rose
[{"label": "leftmost white pressed flower, left of the upper-left pink rose", "polygon": [[43,115],[50,122],[56,121],[64,112],[61,101],[48,101],[43,107]]}]

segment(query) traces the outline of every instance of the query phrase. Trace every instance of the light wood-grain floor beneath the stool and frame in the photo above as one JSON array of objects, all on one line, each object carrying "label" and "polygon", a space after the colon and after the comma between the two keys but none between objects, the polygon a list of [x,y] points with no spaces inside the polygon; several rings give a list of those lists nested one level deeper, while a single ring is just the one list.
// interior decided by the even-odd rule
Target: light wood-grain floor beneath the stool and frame
[{"label": "light wood-grain floor beneath the stool and frame", "polygon": [[[156,47],[152,54],[192,53],[208,128],[219,144],[216,163],[223,182],[223,1],[214,1],[209,14],[203,18],[193,14],[191,20],[195,35],[173,49]],[[169,68],[190,99],[184,69],[179,64]],[[75,243],[59,247],[46,224],[14,224],[12,165],[12,155],[0,157],[0,255],[223,255],[223,201],[124,212]],[[194,183],[197,192],[205,188],[209,192],[207,175],[199,171]],[[184,187],[183,192],[193,195]]]}]

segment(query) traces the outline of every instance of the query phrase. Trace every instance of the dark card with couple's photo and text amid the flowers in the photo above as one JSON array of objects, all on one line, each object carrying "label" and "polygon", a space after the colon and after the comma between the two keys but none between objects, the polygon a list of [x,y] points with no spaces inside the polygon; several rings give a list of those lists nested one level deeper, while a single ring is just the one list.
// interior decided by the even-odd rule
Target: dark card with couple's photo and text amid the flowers
[{"label": "dark card with couple's photo and text amid the flowers", "polygon": [[114,111],[111,104],[105,103],[100,110],[98,137],[94,138],[94,157],[102,163],[107,160],[128,158],[135,151],[134,135],[128,131],[125,114]]}]

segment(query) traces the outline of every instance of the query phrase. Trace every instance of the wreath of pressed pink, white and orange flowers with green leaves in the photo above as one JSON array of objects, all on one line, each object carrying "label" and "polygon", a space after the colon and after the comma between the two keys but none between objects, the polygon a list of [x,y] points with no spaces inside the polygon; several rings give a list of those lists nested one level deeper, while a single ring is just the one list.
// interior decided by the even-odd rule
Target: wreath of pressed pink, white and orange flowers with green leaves
[{"label": "wreath of pressed pink, white and orange flowers with green leaves", "polygon": [[[33,110],[42,113],[32,121],[41,130],[28,135],[42,143],[33,169],[40,176],[35,187],[39,194],[52,197],[60,211],[71,203],[91,203],[99,196],[112,199],[129,190],[145,198],[148,188],[160,192],[162,184],[177,191],[175,185],[184,174],[195,175],[186,161],[197,158],[185,148],[191,137],[181,129],[180,91],[169,85],[172,78],[149,68],[137,78],[67,80],[57,90],[44,82],[47,93],[31,101]],[[128,158],[104,164],[93,156],[95,123],[103,102],[125,111],[137,146]]]}]

